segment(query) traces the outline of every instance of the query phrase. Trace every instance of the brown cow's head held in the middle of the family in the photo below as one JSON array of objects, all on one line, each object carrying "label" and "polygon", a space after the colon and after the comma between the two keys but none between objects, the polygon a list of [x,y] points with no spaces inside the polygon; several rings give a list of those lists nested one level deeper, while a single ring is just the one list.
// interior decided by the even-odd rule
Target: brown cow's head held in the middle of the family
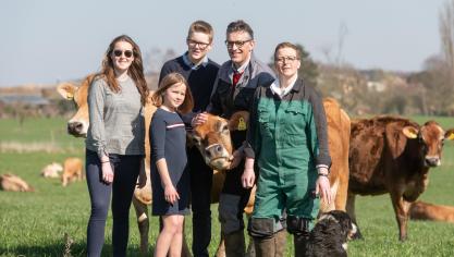
[{"label": "brown cow's head held in the middle of the family", "polygon": [[233,151],[230,132],[246,130],[249,113],[238,111],[230,120],[207,115],[208,121],[194,127],[193,132],[188,133],[188,137],[208,166],[214,170],[228,170]]}]

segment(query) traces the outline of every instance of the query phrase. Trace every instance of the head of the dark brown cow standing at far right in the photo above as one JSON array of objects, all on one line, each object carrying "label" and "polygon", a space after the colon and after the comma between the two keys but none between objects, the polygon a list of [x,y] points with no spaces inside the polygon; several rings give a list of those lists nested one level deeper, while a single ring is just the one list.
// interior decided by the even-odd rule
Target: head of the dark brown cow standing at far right
[{"label": "head of the dark brown cow standing at far right", "polygon": [[434,121],[426,122],[421,127],[405,126],[402,133],[409,139],[418,142],[418,151],[422,157],[425,167],[438,167],[441,164],[441,152],[444,140],[454,139],[454,128],[446,132]]}]

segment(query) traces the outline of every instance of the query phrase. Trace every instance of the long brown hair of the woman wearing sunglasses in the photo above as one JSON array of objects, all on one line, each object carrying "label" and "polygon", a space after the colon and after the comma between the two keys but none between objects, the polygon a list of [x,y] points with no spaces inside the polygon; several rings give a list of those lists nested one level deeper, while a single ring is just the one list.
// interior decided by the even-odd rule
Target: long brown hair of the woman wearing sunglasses
[{"label": "long brown hair of the woman wearing sunglasses", "polygon": [[131,37],[126,35],[121,35],[121,36],[115,37],[110,42],[109,48],[107,49],[105,53],[105,58],[102,60],[101,72],[98,75],[106,79],[109,88],[112,91],[119,93],[121,90],[121,87],[115,79],[115,72],[113,68],[113,61],[111,58],[113,48],[115,47],[115,44],[119,41],[125,41],[125,42],[131,44],[131,46],[133,46],[134,60],[131,63],[130,69],[127,69],[127,75],[136,84],[136,87],[138,91],[140,93],[140,102],[143,106],[145,106],[149,90],[148,90],[147,82],[145,81],[145,76],[144,76],[144,64],[142,61],[142,52],[137,44],[135,44]]}]

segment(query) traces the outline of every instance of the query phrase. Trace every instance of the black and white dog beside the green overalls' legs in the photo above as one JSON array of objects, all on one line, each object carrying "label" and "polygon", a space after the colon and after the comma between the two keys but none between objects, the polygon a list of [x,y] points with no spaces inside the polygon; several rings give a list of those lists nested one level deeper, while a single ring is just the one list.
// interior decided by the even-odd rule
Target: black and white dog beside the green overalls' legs
[{"label": "black and white dog beside the green overalls' legs", "polygon": [[347,256],[347,240],[352,238],[355,233],[356,225],[345,211],[332,210],[323,213],[310,231],[306,256]]}]

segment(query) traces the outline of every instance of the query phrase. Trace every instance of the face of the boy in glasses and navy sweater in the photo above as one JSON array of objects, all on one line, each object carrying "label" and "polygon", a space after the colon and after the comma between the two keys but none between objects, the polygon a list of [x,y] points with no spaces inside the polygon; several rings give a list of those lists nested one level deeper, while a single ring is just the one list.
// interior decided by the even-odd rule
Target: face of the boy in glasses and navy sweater
[{"label": "face of the boy in glasses and navy sweater", "polygon": [[189,60],[199,63],[211,50],[210,36],[201,32],[194,32],[186,40]]}]

